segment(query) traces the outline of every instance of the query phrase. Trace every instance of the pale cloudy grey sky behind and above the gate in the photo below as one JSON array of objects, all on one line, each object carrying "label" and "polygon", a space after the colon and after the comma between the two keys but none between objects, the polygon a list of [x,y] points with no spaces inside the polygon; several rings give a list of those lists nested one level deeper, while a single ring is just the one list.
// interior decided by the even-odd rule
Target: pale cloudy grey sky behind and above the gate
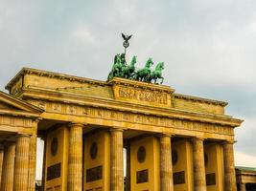
[{"label": "pale cloudy grey sky behind and above the gate", "polygon": [[176,93],[227,101],[236,165],[256,167],[255,0],[0,0],[0,90],[22,67],[105,80],[121,32]]}]

